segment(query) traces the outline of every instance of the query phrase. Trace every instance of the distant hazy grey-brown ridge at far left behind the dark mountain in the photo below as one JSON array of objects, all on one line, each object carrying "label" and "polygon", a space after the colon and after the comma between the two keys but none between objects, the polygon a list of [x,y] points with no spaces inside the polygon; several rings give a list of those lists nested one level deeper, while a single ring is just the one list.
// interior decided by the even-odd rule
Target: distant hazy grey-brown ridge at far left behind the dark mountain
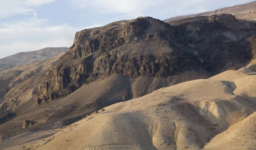
[{"label": "distant hazy grey-brown ridge at far left behind the dark mountain", "polygon": [[56,57],[60,54],[66,53],[67,51],[67,47],[48,47],[37,51],[20,52],[15,55],[8,56],[6,58],[1,58],[0,71],[12,68],[14,66],[25,65],[37,61],[45,61],[50,58]]}]

